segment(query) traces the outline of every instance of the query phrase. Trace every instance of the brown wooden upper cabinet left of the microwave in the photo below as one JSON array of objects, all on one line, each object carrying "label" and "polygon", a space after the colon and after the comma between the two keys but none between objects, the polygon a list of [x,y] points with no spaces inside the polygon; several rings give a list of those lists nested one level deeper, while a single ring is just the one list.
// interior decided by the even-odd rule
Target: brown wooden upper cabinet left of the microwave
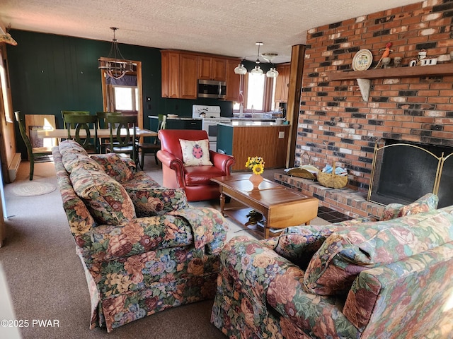
[{"label": "brown wooden upper cabinet left of the microwave", "polygon": [[196,54],[161,51],[161,96],[176,99],[197,99]]}]

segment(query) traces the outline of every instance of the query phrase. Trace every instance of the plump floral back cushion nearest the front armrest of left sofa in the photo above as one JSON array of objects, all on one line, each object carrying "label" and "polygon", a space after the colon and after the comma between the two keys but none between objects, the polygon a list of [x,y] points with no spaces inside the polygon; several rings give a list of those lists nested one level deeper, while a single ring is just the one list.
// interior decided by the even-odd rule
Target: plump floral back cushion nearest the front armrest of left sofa
[{"label": "plump floral back cushion nearest the front armrest of left sofa", "polygon": [[98,224],[120,225],[136,218],[127,191],[105,172],[79,165],[72,170],[70,179],[74,191],[84,200]]}]

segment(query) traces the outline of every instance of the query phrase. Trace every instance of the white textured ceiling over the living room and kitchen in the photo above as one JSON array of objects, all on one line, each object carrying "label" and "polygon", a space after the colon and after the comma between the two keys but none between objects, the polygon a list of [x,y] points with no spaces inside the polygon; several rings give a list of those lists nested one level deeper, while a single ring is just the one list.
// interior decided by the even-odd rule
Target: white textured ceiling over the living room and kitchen
[{"label": "white textured ceiling over the living room and kitchen", "polygon": [[[420,0],[0,0],[0,23],[18,30],[250,57],[306,43],[306,31]],[[18,44],[21,42],[18,41]],[[127,58],[127,56],[125,56]],[[256,59],[256,58],[255,58]]]}]

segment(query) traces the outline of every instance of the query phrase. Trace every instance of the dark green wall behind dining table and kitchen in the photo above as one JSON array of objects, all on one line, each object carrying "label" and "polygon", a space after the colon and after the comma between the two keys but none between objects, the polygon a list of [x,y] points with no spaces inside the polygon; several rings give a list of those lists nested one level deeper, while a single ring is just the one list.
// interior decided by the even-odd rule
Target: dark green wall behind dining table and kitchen
[{"label": "dark green wall behind dining table and kitchen", "polygon": [[[110,41],[23,30],[11,30],[11,35],[18,42],[17,46],[7,45],[13,111],[54,114],[62,128],[62,110],[103,110],[98,58],[108,57]],[[120,43],[120,51],[126,59],[142,61],[144,128],[149,128],[149,115],[191,117],[194,104],[220,105],[222,114],[232,114],[232,102],[162,98],[160,49]],[[26,157],[17,126],[16,139],[18,150]]]}]

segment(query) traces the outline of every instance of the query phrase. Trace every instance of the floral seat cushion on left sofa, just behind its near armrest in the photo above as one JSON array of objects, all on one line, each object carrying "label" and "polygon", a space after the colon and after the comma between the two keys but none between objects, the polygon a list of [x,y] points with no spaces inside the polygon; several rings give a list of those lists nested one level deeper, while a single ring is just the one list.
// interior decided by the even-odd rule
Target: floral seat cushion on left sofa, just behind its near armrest
[{"label": "floral seat cushion on left sofa, just behind its near armrest", "polygon": [[172,210],[188,208],[184,189],[168,189],[166,187],[126,187],[134,203],[138,217],[164,215]]}]

